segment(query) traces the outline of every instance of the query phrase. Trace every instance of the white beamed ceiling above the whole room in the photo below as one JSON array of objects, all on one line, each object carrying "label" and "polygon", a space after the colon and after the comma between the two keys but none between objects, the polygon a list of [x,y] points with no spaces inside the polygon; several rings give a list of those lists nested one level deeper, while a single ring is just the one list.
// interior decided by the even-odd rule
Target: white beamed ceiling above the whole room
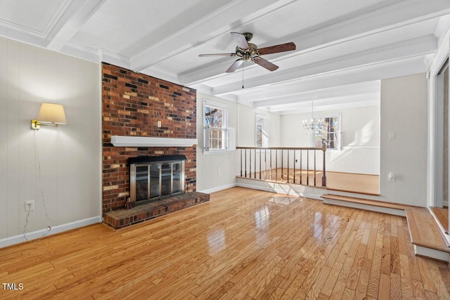
[{"label": "white beamed ceiling above the whole room", "polygon": [[[449,14],[449,0],[0,0],[0,36],[286,114],[372,105],[379,79],[426,72]],[[233,53],[230,32],[297,49],[229,74],[236,58],[198,54]]]}]

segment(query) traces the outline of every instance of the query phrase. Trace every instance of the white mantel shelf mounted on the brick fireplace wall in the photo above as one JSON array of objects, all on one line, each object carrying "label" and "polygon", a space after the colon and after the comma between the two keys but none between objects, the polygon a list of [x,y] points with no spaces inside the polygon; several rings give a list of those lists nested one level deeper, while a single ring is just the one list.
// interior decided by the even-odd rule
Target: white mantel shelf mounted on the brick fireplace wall
[{"label": "white mantel shelf mounted on the brick fireplace wall", "polygon": [[115,147],[192,147],[196,138],[153,138],[149,136],[111,136]]}]

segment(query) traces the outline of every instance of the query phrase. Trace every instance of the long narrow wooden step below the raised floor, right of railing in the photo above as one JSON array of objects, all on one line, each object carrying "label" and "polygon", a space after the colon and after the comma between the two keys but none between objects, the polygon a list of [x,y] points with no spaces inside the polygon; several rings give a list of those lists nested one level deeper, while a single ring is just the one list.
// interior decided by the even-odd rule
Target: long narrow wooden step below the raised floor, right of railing
[{"label": "long narrow wooden step below the raised floor, right of railing", "polygon": [[384,212],[386,214],[394,214],[396,216],[405,216],[405,209],[413,208],[413,206],[406,204],[368,200],[363,198],[347,197],[334,194],[325,194],[321,195],[321,197],[323,199],[323,202],[326,204],[367,209],[371,211]]}]

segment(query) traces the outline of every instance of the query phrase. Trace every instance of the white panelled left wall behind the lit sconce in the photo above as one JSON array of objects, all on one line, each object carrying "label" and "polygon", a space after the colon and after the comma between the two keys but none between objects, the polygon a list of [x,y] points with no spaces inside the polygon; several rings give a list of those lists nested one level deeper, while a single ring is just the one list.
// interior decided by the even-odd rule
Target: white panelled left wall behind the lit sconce
[{"label": "white panelled left wall behind the lit sconce", "polygon": [[[27,200],[35,202],[27,233],[101,221],[99,70],[95,63],[0,38],[0,247],[25,241],[12,237],[23,235]],[[68,124],[32,130],[43,102],[64,105]]]}]

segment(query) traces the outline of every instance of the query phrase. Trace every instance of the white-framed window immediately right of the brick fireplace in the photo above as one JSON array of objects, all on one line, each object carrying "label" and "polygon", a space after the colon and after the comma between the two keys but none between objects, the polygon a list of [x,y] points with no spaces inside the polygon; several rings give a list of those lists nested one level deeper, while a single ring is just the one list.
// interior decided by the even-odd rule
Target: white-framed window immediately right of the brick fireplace
[{"label": "white-framed window immediately right of the brick fireplace", "polygon": [[228,148],[227,107],[219,103],[204,102],[205,151]]}]

